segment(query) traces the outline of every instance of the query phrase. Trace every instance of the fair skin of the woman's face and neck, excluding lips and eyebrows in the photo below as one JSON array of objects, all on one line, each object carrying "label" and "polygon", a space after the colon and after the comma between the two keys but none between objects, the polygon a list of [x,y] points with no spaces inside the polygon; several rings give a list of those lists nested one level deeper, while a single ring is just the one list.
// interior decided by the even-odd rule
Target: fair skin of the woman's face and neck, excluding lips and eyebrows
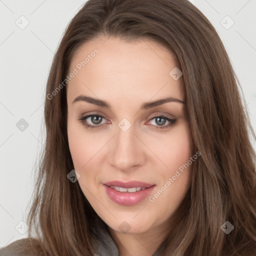
[{"label": "fair skin of the woman's face and neck, excluding lips and eyebrows", "polygon": [[[152,255],[169,231],[166,223],[190,186],[192,164],[154,202],[147,197],[136,205],[119,205],[110,200],[102,183],[153,183],[153,195],[193,155],[184,104],[167,102],[139,110],[142,103],[166,96],[184,101],[182,76],[175,81],[169,75],[177,63],[170,51],[156,42],[126,42],[113,37],[83,44],[73,55],[69,71],[94,48],[99,52],[67,85],[68,144],[74,168],[80,174],[77,182],[110,227],[119,254]],[[105,100],[111,108],[85,101],[72,103],[80,94]],[[88,129],[78,120],[91,113],[103,116],[98,129]],[[161,125],[153,117],[161,114],[176,122],[157,129]],[[126,131],[118,126],[123,118],[131,124]],[[164,120],[162,126],[167,126],[170,122]],[[91,117],[86,121],[99,125]],[[127,232],[118,227],[123,221],[129,225]]]}]

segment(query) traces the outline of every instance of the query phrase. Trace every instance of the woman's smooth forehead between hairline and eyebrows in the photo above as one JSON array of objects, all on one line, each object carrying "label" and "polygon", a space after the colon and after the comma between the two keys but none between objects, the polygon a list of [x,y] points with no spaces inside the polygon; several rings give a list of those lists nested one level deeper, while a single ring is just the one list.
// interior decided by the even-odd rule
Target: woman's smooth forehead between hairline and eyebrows
[{"label": "woman's smooth forehead between hairline and eyebrows", "polygon": [[182,77],[174,80],[169,75],[176,66],[171,52],[156,42],[97,38],[79,47],[71,59],[68,73],[74,69],[77,73],[67,84],[67,100],[78,94],[134,100],[141,96],[149,100],[157,94],[182,99]]}]

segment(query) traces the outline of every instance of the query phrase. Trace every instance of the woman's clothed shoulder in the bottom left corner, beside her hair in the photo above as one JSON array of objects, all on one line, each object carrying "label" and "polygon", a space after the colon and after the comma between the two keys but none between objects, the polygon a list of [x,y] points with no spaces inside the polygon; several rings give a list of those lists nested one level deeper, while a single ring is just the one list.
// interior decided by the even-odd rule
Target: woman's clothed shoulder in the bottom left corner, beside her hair
[{"label": "woman's clothed shoulder in the bottom left corner, beside her hair", "polygon": [[0,256],[42,256],[37,239],[27,237],[16,240],[0,249]]}]

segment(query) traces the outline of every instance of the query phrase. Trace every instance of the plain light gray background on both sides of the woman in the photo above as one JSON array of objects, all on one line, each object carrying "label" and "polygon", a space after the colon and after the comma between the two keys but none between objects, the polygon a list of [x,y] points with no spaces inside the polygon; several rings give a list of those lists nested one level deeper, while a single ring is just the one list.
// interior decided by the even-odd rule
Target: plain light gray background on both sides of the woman
[{"label": "plain light gray background on both sides of the woman", "polygon": [[[224,42],[255,130],[256,0],[191,1]],[[45,83],[53,52],[83,3],[0,0],[0,247],[27,236],[26,232],[21,234],[25,223],[20,221],[28,212],[34,164],[44,143]],[[20,18],[22,15],[25,18]],[[29,24],[20,29],[15,22],[19,26]],[[16,126],[21,118],[28,123],[23,131]]]}]

